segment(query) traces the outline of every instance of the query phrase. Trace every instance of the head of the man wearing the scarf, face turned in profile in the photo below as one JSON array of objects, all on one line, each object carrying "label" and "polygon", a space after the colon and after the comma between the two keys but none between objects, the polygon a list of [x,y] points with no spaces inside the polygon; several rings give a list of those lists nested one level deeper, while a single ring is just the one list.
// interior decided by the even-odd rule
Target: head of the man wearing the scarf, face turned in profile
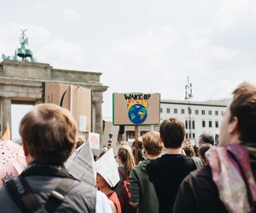
[{"label": "head of the man wearing the scarf, face turned in profile", "polygon": [[256,87],[250,83],[241,83],[233,95],[233,101],[224,111],[220,126],[220,147],[256,139]]}]

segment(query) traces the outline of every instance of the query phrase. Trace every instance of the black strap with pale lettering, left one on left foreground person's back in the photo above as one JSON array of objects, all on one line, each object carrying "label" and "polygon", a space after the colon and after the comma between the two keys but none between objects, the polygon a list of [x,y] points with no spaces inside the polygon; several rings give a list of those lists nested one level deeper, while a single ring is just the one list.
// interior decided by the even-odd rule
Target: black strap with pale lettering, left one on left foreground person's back
[{"label": "black strap with pale lettering, left one on left foreground person's back", "polygon": [[24,177],[14,177],[6,181],[5,187],[23,212],[35,212],[41,207]]}]

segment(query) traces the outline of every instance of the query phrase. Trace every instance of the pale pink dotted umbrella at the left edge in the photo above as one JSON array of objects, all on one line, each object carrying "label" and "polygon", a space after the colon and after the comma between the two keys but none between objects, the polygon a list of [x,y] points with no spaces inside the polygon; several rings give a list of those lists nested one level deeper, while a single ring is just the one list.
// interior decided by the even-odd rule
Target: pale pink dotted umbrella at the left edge
[{"label": "pale pink dotted umbrella at the left edge", "polygon": [[13,141],[0,141],[0,187],[4,181],[19,176],[26,167],[23,148]]}]

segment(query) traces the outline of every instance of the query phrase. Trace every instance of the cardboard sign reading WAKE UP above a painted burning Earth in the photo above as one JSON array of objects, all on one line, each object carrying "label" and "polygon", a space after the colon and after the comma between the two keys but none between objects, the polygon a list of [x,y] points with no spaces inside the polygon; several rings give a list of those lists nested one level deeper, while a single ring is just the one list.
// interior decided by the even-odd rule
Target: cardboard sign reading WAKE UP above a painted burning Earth
[{"label": "cardboard sign reading WAKE UP above a painted burning Earth", "polygon": [[113,125],[160,124],[160,94],[113,93]]}]

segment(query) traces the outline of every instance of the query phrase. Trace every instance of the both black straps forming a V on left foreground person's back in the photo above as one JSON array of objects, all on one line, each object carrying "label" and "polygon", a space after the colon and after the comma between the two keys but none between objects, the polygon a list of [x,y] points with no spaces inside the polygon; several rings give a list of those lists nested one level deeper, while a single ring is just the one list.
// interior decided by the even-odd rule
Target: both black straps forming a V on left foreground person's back
[{"label": "both black straps forming a V on left foreground person's back", "polygon": [[46,204],[42,206],[38,203],[31,188],[27,185],[26,180],[19,176],[6,182],[6,187],[15,200],[20,209],[27,213],[32,212],[54,212],[55,209],[62,203],[69,187],[73,184],[73,179],[63,178],[55,189],[50,193]]}]

